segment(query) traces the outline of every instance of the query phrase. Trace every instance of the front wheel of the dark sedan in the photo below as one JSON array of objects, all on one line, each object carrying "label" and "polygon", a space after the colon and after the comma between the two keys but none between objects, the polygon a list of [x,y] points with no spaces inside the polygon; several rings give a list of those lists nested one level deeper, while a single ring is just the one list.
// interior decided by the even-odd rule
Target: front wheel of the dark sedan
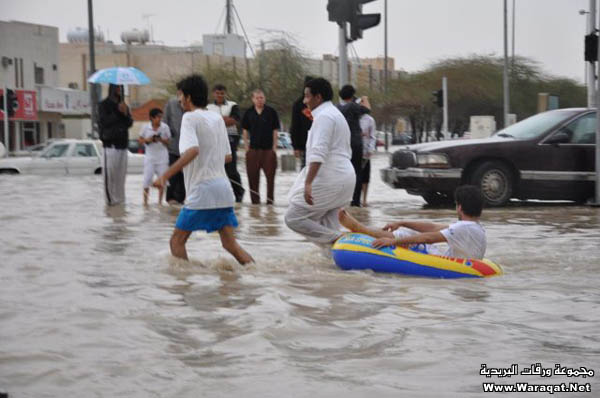
[{"label": "front wheel of the dark sedan", "polygon": [[500,162],[482,163],[471,174],[470,181],[481,189],[488,206],[504,206],[513,193],[512,173]]}]

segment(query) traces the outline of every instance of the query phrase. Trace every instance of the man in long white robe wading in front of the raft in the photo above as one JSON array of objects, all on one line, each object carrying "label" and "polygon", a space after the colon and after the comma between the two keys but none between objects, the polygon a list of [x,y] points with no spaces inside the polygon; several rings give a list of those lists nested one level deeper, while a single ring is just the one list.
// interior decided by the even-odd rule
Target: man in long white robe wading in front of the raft
[{"label": "man in long white robe wading in front of the raft", "polygon": [[304,103],[313,116],[306,141],[307,165],[290,189],[285,214],[290,229],[321,244],[331,244],[342,235],[337,213],[352,199],[356,183],[350,128],[332,98],[327,80],[305,84]]}]

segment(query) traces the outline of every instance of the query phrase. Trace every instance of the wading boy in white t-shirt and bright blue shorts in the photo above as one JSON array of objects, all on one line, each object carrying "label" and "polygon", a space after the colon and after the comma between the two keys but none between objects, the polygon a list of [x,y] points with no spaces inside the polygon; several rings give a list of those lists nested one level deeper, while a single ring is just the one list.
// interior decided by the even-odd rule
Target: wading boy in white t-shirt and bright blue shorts
[{"label": "wading boy in white t-shirt and bright blue shorts", "polygon": [[171,254],[187,260],[185,244],[193,231],[218,231],[223,248],[240,264],[252,262],[254,259],[233,233],[238,222],[233,212],[235,198],[225,173],[231,149],[223,118],[206,110],[208,87],[202,76],[186,77],[177,83],[177,89],[186,111],[179,138],[181,157],[154,183],[160,189],[183,169],[186,198],[171,236]]}]

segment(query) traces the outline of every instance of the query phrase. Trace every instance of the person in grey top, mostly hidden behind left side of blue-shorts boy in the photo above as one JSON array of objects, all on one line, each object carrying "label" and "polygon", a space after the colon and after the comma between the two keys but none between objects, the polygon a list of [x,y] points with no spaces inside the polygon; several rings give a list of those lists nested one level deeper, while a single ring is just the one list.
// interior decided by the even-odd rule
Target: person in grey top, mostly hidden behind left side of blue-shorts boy
[{"label": "person in grey top, mostly hidden behind left side of blue-shorts boy", "polygon": [[[181,129],[181,118],[184,110],[179,102],[181,92],[177,89],[177,98],[170,99],[165,105],[163,112],[163,121],[171,130],[171,140],[169,141],[169,165],[179,160],[179,131]],[[167,203],[183,204],[185,201],[185,184],[183,182],[183,173],[179,172],[169,179],[167,186]]]}]

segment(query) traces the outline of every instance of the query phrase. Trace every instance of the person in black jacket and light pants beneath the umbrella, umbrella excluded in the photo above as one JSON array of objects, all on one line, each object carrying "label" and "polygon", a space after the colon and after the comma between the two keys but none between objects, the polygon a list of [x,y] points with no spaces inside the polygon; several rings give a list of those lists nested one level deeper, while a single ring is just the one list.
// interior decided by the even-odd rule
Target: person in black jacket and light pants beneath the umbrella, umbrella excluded
[{"label": "person in black jacket and light pants beneath the umbrella, umbrella excluded", "polygon": [[121,90],[121,86],[111,84],[108,87],[108,97],[98,104],[100,140],[104,146],[104,195],[109,206],[125,202],[127,146],[133,119],[129,107],[123,101]]}]

